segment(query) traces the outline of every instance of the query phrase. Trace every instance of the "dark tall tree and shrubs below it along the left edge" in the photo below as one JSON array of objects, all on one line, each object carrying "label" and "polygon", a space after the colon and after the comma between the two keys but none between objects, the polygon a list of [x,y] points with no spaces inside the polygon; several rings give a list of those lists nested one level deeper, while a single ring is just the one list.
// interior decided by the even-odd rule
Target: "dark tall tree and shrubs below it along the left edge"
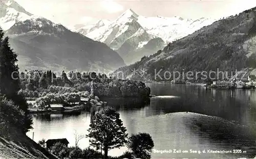
[{"label": "dark tall tree and shrubs below it along the left edge", "polygon": [[10,135],[8,132],[12,127],[23,133],[32,128],[28,104],[23,96],[18,95],[20,85],[16,62],[17,54],[10,48],[9,38],[4,38],[0,28],[0,133],[4,137]]}]

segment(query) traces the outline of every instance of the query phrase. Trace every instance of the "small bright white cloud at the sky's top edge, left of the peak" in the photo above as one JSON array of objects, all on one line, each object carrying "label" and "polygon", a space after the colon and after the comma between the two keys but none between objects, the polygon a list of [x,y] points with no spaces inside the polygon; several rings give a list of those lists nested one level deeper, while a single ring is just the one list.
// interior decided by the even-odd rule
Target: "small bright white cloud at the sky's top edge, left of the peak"
[{"label": "small bright white cloud at the sky's top edge, left of the peak", "polygon": [[113,0],[103,0],[101,2],[101,7],[109,13],[116,13],[123,10],[123,6]]}]

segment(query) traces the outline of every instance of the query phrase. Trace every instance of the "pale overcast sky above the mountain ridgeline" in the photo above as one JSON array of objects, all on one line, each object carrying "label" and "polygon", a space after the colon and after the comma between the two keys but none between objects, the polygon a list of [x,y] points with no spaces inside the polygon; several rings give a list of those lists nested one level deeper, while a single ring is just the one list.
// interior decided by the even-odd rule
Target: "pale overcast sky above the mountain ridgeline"
[{"label": "pale overcast sky above the mountain ridgeline", "polygon": [[256,0],[16,0],[28,12],[65,26],[88,24],[97,19],[114,20],[131,8],[143,16],[220,18],[256,6]]}]

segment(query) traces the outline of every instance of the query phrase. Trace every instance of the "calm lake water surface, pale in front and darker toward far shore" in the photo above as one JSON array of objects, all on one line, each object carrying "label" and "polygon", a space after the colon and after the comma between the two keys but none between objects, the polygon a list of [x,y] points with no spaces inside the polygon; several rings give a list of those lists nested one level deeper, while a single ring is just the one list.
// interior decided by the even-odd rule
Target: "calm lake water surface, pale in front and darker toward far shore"
[{"label": "calm lake water surface, pale in front and darker toward far shore", "polygon": [[[220,140],[213,137],[219,133],[201,131],[193,125],[194,119],[207,115],[220,117],[209,121],[210,127],[219,126],[222,121],[237,122],[249,126],[256,133],[256,92],[254,90],[205,89],[194,85],[148,84],[151,94],[157,97],[149,101],[138,99],[104,99],[120,113],[120,118],[129,134],[150,133],[155,143],[152,158],[251,158],[256,155],[256,143],[239,139]],[[133,108],[131,108],[133,107]],[[186,113],[188,111],[188,113]],[[177,113],[181,112],[181,113]],[[195,112],[195,113],[190,113]],[[201,114],[198,115],[197,113]],[[202,116],[204,117],[204,116]],[[205,118],[199,118],[204,120]],[[88,134],[90,112],[79,115],[33,115],[34,129],[27,135],[38,142],[42,138],[67,138],[69,146],[74,146],[74,131]],[[240,133],[245,129],[241,129]],[[223,135],[230,135],[225,131]],[[249,140],[254,140],[253,138]],[[89,146],[89,139],[79,142],[79,147]],[[174,153],[174,149],[181,153]],[[206,153],[188,153],[189,150],[203,150]],[[242,150],[242,153],[207,153],[207,150]],[[111,150],[110,155],[122,154],[125,147]],[[168,153],[157,153],[156,150],[172,150]],[[182,152],[183,151],[183,152]],[[188,151],[188,152],[186,152]],[[245,152],[246,151],[246,152]],[[159,151],[160,152],[160,151]]]}]

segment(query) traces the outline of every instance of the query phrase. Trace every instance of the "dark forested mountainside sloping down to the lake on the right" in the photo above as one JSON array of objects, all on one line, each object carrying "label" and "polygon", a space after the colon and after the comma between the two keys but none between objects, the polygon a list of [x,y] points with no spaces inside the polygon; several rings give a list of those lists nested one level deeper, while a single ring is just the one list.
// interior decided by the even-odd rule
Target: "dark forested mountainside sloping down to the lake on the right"
[{"label": "dark forested mountainside sloping down to the lake on the right", "polygon": [[256,7],[168,43],[164,49],[115,73],[122,71],[125,78],[154,81],[174,79],[173,74],[169,79],[163,78],[166,71],[195,73],[219,69],[229,75],[236,70],[256,75],[255,51]]}]

